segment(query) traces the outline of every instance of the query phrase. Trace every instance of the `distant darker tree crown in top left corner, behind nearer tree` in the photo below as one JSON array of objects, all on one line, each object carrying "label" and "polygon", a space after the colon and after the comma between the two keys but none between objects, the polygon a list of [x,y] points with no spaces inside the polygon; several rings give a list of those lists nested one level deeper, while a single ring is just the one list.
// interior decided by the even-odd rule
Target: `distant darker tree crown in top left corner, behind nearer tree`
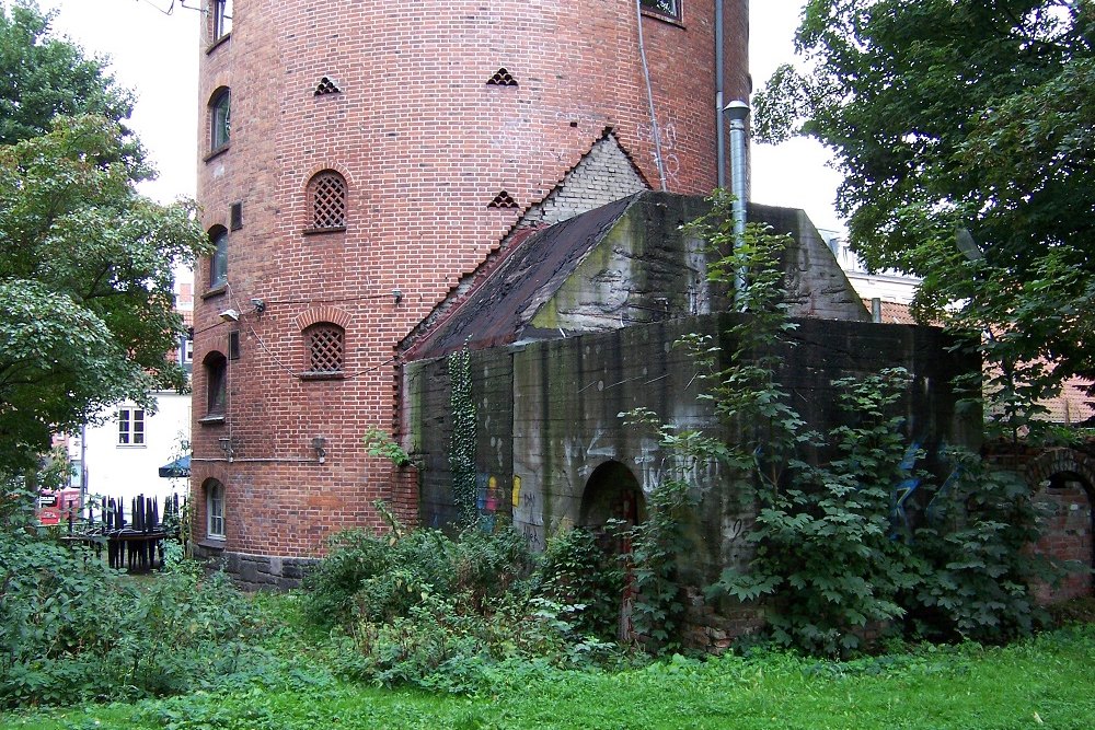
[{"label": "distant darker tree crown in top left corner, behind nearer tree", "polygon": [[50,20],[33,0],[16,0],[10,15],[0,8],[0,144],[48,132],[59,114],[119,121],[132,111],[105,61],[50,36]]}]

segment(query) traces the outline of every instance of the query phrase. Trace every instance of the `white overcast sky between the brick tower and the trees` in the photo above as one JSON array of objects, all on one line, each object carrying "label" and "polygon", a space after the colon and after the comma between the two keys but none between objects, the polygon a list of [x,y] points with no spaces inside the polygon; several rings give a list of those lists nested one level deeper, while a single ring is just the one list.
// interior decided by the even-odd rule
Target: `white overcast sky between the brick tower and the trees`
[{"label": "white overcast sky between the brick tower and the trees", "polygon": [[[5,0],[9,1],[10,0]],[[137,93],[132,127],[160,171],[142,190],[161,200],[193,196],[197,170],[197,63],[200,0],[38,0],[59,11],[54,30],[105,55],[118,82]],[[803,0],[752,0],[750,66],[759,89],[794,55],[793,34]],[[164,11],[171,10],[171,14]],[[843,228],[832,207],[840,175],[810,140],[754,144],[752,197],[804,208],[818,228]]]}]

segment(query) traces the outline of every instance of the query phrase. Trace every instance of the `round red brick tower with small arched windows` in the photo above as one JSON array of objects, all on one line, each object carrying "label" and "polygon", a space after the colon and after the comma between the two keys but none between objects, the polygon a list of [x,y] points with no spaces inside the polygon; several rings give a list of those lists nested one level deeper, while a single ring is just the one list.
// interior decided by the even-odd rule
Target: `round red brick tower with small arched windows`
[{"label": "round red brick tower with small arched windows", "polygon": [[[361,442],[393,428],[401,344],[521,224],[715,186],[715,4],[207,0],[206,551],[292,582],[325,536],[378,524],[374,500],[414,515],[413,478]],[[749,91],[748,1],[723,4],[729,101]]]}]

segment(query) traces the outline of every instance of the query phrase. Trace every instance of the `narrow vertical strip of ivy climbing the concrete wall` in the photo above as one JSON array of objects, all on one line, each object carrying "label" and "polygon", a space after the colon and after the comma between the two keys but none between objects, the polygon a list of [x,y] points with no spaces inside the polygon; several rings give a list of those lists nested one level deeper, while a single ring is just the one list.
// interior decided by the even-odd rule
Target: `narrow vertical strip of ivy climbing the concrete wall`
[{"label": "narrow vertical strip of ivy climbing the concrete wall", "polygon": [[471,352],[463,348],[448,357],[449,407],[452,412],[452,436],[449,438],[449,472],[452,496],[460,521],[472,524],[479,520],[475,488],[475,404],[472,402]]}]

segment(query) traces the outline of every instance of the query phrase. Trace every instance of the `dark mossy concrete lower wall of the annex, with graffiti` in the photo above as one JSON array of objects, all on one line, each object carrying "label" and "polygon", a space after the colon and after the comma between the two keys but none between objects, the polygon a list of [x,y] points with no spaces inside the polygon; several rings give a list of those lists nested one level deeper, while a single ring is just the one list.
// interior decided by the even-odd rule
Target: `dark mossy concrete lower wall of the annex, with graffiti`
[{"label": "dark mossy concrete lower wall of the annex, with graffiti", "polygon": [[[589,477],[607,462],[624,465],[644,495],[672,468],[672,454],[655,434],[624,425],[623,412],[643,407],[682,427],[719,431],[710,403],[699,398],[691,357],[673,343],[689,333],[708,334],[724,352],[734,317],[707,315],[625,327],[608,333],[491,348],[471,354],[476,406],[479,508],[512,522],[534,548],[555,532],[581,521]],[[781,382],[809,427],[839,421],[832,381],[901,367],[913,374],[902,402],[907,430],[933,452],[941,443],[977,445],[977,429],[955,409],[950,379],[976,368],[945,350],[933,328],[802,320],[794,344],[782,352]],[[422,471],[422,523],[445,526],[458,513],[450,488],[451,383],[446,358],[406,369],[416,405],[407,414],[411,448]],[[976,418],[975,418],[976,420]],[[700,500],[687,567],[711,579],[749,557],[745,536],[752,505],[735,474],[717,463],[688,475]]]}]

